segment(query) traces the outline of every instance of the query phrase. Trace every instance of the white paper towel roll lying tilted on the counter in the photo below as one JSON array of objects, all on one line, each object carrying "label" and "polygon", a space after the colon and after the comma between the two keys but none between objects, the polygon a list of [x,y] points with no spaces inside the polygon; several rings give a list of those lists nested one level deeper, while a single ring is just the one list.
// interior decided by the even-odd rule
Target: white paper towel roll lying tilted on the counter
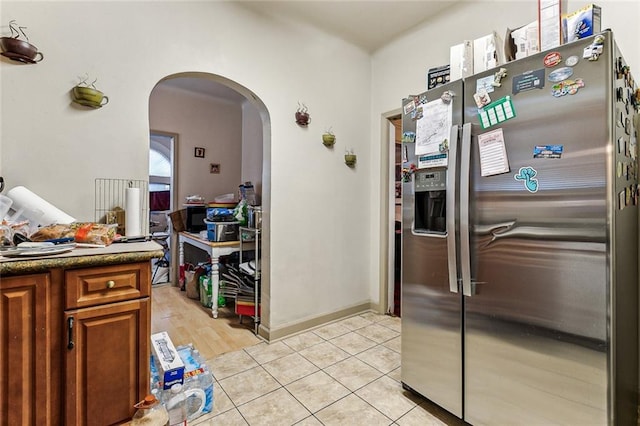
[{"label": "white paper towel roll lying tilted on the counter", "polygon": [[24,186],[16,186],[7,192],[7,197],[13,200],[14,217],[28,219],[31,226],[47,226],[54,223],[71,223],[76,220],[58,209],[53,204],[42,199]]}]

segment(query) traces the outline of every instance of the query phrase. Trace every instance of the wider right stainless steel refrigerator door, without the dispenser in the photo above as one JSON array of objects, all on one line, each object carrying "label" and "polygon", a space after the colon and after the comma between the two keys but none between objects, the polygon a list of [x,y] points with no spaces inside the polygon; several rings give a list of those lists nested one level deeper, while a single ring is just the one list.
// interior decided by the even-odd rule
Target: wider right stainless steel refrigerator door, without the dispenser
[{"label": "wider right stainless steel refrigerator door, without the dispenser", "polygon": [[[608,422],[608,37],[597,61],[584,57],[589,39],[558,47],[553,66],[545,53],[506,65],[489,96],[511,100],[514,118],[498,124],[480,122],[473,98],[498,70],[465,81],[475,291],[465,297],[464,388],[474,425]],[[532,75],[542,78],[530,84]],[[561,81],[573,93],[554,96]],[[509,171],[486,174],[478,139],[498,128]]]}]

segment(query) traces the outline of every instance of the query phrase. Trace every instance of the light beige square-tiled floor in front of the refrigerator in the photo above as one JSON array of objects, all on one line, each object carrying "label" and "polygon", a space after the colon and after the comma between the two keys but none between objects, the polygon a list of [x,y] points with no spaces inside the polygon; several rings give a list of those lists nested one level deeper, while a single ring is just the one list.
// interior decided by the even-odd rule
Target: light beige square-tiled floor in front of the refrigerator
[{"label": "light beige square-tiled floor in front of the refrigerator", "polygon": [[364,313],[207,361],[214,411],[192,425],[457,425],[400,383],[400,318]]}]

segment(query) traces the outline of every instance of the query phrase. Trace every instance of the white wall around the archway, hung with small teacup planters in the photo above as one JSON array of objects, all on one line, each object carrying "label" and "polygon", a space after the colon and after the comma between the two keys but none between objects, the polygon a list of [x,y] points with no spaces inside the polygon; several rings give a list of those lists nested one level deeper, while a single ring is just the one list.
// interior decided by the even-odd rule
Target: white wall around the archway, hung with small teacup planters
[{"label": "white wall around the archway, hung with small teacup planters", "polygon": [[[93,218],[94,179],[146,179],[149,96],[158,81],[205,72],[250,89],[268,109],[263,204],[270,316],[278,329],[368,302],[370,57],[331,35],[230,2],[0,3],[45,55],[0,63],[0,175],[78,219]],[[2,28],[3,32],[7,30]],[[78,109],[77,77],[110,99]],[[304,102],[311,124],[294,122]],[[332,126],[333,150],[321,134]],[[345,166],[345,144],[358,154]]]}]

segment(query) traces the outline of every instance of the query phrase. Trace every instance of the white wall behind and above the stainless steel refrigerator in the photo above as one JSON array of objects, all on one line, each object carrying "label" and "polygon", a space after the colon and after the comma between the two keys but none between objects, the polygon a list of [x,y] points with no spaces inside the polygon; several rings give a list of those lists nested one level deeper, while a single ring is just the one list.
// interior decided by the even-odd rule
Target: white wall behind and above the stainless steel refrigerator
[{"label": "white wall behind and above the stainless steel refrigerator", "polygon": [[[577,10],[588,2],[570,0],[567,11]],[[640,78],[640,1],[601,0],[602,29],[613,30],[618,46],[631,66],[636,79]],[[371,132],[376,142],[371,149],[371,180],[377,182],[381,164],[380,119],[383,114],[399,110],[402,98],[426,90],[426,74],[429,68],[449,63],[449,48],[496,31],[504,38],[507,27],[518,28],[537,19],[536,0],[514,1],[459,1],[444,10],[433,20],[389,43],[372,57],[372,124]],[[381,235],[380,203],[381,187],[371,187],[371,233]],[[377,259],[381,250],[379,239],[373,240],[371,259],[371,298],[378,295],[379,282]],[[384,250],[384,248],[382,248]],[[382,279],[382,278],[380,278]]]}]

